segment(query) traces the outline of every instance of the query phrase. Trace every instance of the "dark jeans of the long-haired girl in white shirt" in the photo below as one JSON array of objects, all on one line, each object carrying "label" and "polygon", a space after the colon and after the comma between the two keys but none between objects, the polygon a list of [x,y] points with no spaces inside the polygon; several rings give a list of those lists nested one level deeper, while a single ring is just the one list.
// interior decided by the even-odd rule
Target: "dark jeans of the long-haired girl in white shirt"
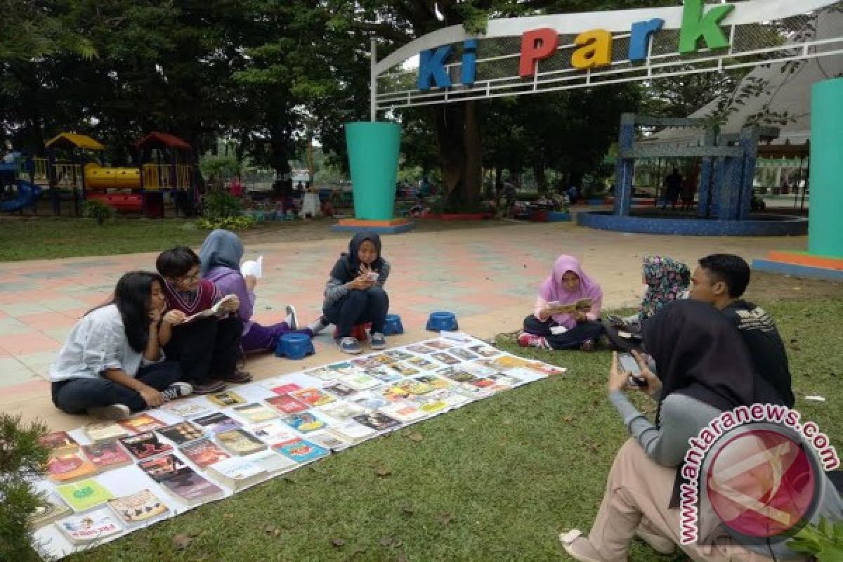
[{"label": "dark jeans of the long-haired girl in white shirt", "polygon": [[[164,390],[181,378],[181,368],[175,361],[161,361],[141,367],[135,376],[142,383]],[[66,414],[84,414],[89,408],[126,404],[133,412],[147,409],[140,393],[114,383],[105,377],[79,377],[52,383],[53,404]]]}]

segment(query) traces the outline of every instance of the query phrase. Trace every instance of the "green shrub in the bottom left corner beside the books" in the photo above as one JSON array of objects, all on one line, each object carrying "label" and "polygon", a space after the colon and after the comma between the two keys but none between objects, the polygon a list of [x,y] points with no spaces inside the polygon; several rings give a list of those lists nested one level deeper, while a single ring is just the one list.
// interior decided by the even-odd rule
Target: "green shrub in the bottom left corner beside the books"
[{"label": "green shrub in the bottom left corner beside the books", "polygon": [[30,547],[30,516],[44,505],[33,481],[44,474],[47,450],[38,442],[39,423],[24,426],[20,415],[0,414],[0,560],[37,560]]}]

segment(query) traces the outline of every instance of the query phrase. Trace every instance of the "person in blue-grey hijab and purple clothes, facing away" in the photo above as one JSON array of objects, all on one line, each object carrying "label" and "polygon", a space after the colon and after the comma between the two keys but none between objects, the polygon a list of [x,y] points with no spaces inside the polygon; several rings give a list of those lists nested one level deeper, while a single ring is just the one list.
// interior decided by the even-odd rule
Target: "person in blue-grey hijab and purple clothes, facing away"
[{"label": "person in blue-grey hijab and purple clothes, facing away", "polygon": [[240,345],[244,352],[275,349],[278,338],[287,332],[298,332],[313,337],[313,329],[298,329],[296,309],[292,306],[287,306],[287,318],[278,324],[262,326],[252,321],[257,279],[255,276],[243,276],[240,273],[243,244],[237,234],[217,228],[208,234],[202,243],[199,259],[202,277],[213,281],[220,294],[234,294],[239,299],[238,313],[243,320]]}]

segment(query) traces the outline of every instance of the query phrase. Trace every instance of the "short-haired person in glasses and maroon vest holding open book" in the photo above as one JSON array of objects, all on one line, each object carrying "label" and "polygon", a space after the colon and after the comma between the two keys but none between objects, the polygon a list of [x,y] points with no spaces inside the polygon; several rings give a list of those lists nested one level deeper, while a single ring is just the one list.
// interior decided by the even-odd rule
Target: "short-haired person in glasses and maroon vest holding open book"
[{"label": "short-haired person in glasses and maroon vest holding open book", "polygon": [[239,298],[232,295],[217,314],[188,322],[223,295],[212,281],[201,279],[199,256],[190,248],[168,249],[158,255],[155,265],[164,277],[164,296],[172,312],[164,317],[161,345],[170,359],[180,361],[193,392],[216,393],[226,383],[248,383],[249,372],[237,369],[243,334],[243,320],[237,316]]}]

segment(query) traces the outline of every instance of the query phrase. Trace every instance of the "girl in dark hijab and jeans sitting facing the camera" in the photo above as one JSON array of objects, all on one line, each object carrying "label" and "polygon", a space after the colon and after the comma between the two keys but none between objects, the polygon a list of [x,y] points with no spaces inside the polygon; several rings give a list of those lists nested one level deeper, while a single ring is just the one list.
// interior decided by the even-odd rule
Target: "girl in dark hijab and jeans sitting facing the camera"
[{"label": "girl in dark hijab and jeans sitting facing the camera", "polygon": [[389,296],[384,283],[389,277],[389,262],[380,254],[380,237],[371,231],[354,235],[330,271],[325,286],[322,311],[324,324],[336,324],[336,343],[341,351],[360,353],[362,348],[352,329],[357,324],[372,323],[369,340],[373,350],[386,347],[384,320],[389,311]]}]

